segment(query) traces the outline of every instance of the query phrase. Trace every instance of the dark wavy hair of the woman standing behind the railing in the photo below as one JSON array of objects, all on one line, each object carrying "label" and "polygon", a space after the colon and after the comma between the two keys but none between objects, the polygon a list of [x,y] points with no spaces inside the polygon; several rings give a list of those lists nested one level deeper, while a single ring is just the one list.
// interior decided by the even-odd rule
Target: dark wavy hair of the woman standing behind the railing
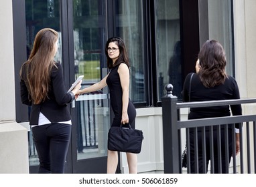
[{"label": "dark wavy hair of the woman standing behind the railing", "polygon": [[227,64],[225,50],[216,40],[208,40],[198,53],[200,71],[198,76],[205,87],[214,87],[225,82]]}]

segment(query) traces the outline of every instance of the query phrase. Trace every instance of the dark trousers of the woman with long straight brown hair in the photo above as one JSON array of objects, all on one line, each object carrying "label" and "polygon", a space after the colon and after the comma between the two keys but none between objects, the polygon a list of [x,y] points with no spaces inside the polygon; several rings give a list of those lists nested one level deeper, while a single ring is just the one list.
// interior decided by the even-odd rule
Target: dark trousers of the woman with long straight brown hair
[{"label": "dark trousers of the woman with long straight brown hair", "polygon": [[69,124],[46,124],[32,128],[40,162],[39,174],[63,174],[71,136]]}]

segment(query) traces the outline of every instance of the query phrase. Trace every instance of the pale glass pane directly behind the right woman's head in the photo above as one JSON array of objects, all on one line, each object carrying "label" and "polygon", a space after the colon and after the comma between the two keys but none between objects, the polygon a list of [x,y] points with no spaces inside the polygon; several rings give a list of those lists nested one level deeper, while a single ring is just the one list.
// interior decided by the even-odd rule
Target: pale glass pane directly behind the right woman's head
[{"label": "pale glass pane directly behind the right woman's head", "polygon": [[216,39],[223,45],[227,55],[226,71],[229,75],[234,75],[231,14],[231,1],[208,1],[209,39]]}]

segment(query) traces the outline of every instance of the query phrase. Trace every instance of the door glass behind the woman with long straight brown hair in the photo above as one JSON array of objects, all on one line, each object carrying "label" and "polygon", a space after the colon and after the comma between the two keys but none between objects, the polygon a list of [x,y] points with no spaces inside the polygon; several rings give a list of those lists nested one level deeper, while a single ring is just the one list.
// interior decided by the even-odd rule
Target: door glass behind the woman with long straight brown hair
[{"label": "door glass behind the woman with long straight brown hair", "polygon": [[[60,31],[60,2],[58,0],[36,1],[25,0],[25,20],[27,32],[27,57],[33,47],[36,33],[45,27],[50,27],[58,31],[61,38]],[[62,63],[62,43],[59,39],[59,47],[55,56],[55,60]],[[29,110],[29,109],[28,109]],[[38,162],[38,154],[34,146],[32,133],[28,132],[29,140],[29,166],[36,166]]]}]

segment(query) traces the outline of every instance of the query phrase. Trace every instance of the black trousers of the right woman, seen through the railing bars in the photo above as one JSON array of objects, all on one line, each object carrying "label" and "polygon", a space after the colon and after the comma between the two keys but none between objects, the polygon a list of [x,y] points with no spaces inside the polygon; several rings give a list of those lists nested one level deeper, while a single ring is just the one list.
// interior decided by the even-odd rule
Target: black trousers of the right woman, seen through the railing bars
[{"label": "black trousers of the right woman, seen through the railing bars", "polygon": [[[210,161],[210,132],[206,130],[206,172],[208,170],[208,164]],[[220,157],[218,156],[218,138],[217,138],[217,130],[212,131],[213,134],[213,162],[214,162],[214,173],[215,174],[225,174],[229,173],[229,167],[226,167],[227,162],[228,165],[231,161],[231,156],[233,154],[232,151],[232,130],[228,128],[228,147],[225,145],[225,130],[223,128],[220,129],[220,150],[221,154]],[[194,136],[194,129],[190,129],[190,171],[191,173],[195,173],[195,136]],[[202,152],[202,131],[198,130],[198,173],[202,174],[203,172],[203,152]],[[227,147],[227,148],[226,148]],[[225,150],[229,149],[229,155],[226,158]],[[221,160],[221,172],[220,168],[218,167],[218,160]]]}]

